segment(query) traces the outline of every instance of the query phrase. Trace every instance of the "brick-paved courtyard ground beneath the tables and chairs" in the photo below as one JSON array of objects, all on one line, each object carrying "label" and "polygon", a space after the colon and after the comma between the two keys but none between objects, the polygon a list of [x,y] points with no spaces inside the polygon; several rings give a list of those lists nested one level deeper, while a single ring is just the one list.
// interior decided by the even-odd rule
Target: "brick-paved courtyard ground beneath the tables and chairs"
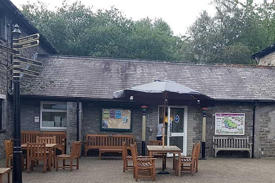
[{"label": "brick-paved courtyard ground beneath the tables and chairs", "polygon": [[[132,183],[135,182],[132,170],[123,173],[122,160],[119,157],[104,156],[82,157],[79,170],[69,169],[58,172],[43,173],[42,164],[34,167],[34,171],[23,172],[23,183]],[[108,158],[108,159],[107,159]],[[61,162],[60,162],[61,163]],[[0,161],[1,166],[5,160]],[[75,167],[74,167],[75,168]],[[156,171],[161,170],[161,159],[157,160]],[[275,159],[247,159],[247,158],[208,158],[199,161],[199,172],[192,177],[189,173],[175,176],[172,170],[172,159],[167,159],[169,175],[156,174],[156,182],[193,182],[193,183],[274,183]],[[6,181],[6,176],[5,179]],[[139,182],[148,183],[152,179],[139,179]]]}]

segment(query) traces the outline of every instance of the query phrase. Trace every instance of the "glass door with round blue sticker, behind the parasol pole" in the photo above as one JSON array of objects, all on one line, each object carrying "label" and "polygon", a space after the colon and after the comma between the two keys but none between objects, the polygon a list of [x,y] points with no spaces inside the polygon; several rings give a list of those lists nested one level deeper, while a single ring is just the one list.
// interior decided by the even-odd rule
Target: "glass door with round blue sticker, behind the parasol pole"
[{"label": "glass door with round blue sticker, behind the parasol pole", "polygon": [[[187,131],[187,112],[186,107],[168,107],[168,145],[176,145],[182,149],[181,156],[186,155],[186,131]],[[168,153],[168,156],[173,156]],[[178,156],[178,155],[176,155]]]}]

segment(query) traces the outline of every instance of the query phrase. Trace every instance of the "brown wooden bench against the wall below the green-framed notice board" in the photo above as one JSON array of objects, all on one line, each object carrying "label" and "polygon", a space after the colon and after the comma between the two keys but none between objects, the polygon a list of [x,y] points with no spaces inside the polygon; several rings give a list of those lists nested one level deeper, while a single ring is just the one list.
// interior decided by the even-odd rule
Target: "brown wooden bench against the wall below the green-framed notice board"
[{"label": "brown wooden bench against the wall below the green-framed notice board", "polygon": [[[135,142],[134,135],[103,135],[103,134],[87,134],[85,143],[85,156],[90,149],[119,149],[122,153],[122,142],[126,142],[127,149],[130,144]],[[112,150],[112,152],[115,152]],[[106,150],[104,150],[106,152]],[[110,151],[111,152],[111,151]]]}]

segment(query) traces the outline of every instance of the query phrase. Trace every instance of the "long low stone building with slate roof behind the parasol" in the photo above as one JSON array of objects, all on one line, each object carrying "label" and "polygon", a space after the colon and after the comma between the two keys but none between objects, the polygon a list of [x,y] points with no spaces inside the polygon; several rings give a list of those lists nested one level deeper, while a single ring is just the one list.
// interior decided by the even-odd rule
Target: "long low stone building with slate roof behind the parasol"
[{"label": "long low stone building with slate roof behind the parasol", "polygon": [[[140,104],[119,102],[112,93],[124,88],[165,78],[176,81],[215,99],[215,106],[207,110],[206,156],[213,156],[215,113],[244,113],[244,135],[253,135],[255,109],[254,157],[273,157],[275,128],[273,125],[275,96],[275,67],[231,64],[196,64],[152,60],[112,59],[83,56],[38,55],[44,63],[40,78],[22,77],[21,127],[25,130],[67,130],[67,151],[76,140],[76,102],[79,101],[79,139],[86,134],[134,134],[141,145],[142,111]],[[163,72],[165,71],[165,72]],[[31,102],[30,102],[31,101]],[[60,103],[61,102],[61,103]],[[48,124],[43,115],[44,104],[64,105],[63,126]],[[169,101],[168,101],[169,105]],[[146,140],[156,139],[161,106],[149,105],[146,116]],[[131,131],[109,131],[102,128],[104,109],[131,110]],[[160,109],[160,110],[159,110]],[[182,114],[182,131],[178,139],[169,138],[189,155],[192,143],[202,138],[202,110],[200,106],[169,106]],[[273,111],[273,112],[272,112]],[[34,122],[39,117],[39,122]],[[24,123],[23,123],[24,121]],[[60,119],[58,119],[60,121]],[[43,124],[44,123],[44,124]],[[60,122],[58,122],[60,124]],[[57,125],[58,126],[58,125]],[[66,127],[65,127],[66,126]],[[150,128],[152,132],[150,132]],[[89,152],[88,152],[89,154]],[[91,154],[91,153],[90,153]],[[218,152],[218,156],[247,156],[247,152]]]}]

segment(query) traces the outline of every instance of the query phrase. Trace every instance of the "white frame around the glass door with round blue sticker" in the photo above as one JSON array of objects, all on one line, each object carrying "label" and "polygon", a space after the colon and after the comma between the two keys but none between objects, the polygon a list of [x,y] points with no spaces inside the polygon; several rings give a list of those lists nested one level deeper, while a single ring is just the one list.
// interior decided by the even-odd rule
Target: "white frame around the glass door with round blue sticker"
[{"label": "white frame around the glass door with round blue sticker", "polygon": [[[157,123],[159,123],[160,121],[160,107],[163,107],[163,105],[159,105],[158,106],[158,121]],[[188,106],[168,106],[168,129],[167,129],[167,145],[169,145],[169,131],[170,131],[170,127],[169,127],[169,124],[170,124],[170,107],[172,108],[182,108],[184,109],[184,136],[183,136],[183,150],[182,150],[182,153],[181,153],[181,156],[186,156],[187,154],[187,124],[188,124]],[[170,156],[173,156],[172,153],[167,153],[167,156],[170,157]],[[176,156],[178,156],[178,154],[176,154]]]}]

